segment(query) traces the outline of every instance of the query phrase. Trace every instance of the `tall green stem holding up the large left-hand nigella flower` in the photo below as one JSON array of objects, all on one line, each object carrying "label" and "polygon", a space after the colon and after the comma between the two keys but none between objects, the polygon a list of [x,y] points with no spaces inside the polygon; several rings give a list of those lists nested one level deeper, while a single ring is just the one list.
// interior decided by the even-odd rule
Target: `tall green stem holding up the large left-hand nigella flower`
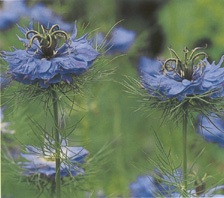
[{"label": "tall green stem holding up the large left-hand nigella flower", "polygon": [[56,183],[56,197],[61,197],[61,171],[60,171],[60,132],[59,132],[59,125],[58,125],[58,96],[57,93],[53,90],[52,91],[52,101],[53,101],[53,110],[54,110],[54,123],[55,123],[55,150],[56,150],[56,175],[55,175],[55,183]]}]

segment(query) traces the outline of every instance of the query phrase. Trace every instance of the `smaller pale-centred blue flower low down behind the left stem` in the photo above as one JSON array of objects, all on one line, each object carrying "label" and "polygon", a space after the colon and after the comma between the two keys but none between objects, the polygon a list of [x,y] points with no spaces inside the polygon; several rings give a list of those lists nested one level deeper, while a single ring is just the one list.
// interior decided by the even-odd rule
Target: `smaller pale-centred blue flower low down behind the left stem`
[{"label": "smaller pale-centred blue flower low down behind the left stem", "polygon": [[[54,142],[51,141],[50,145]],[[24,175],[42,174],[54,178],[56,174],[55,149],[52,146],[45,146],[44,149],[33,146],[26,146],[27,153],[21,156],[28,162],[20,162],[25,169]],[[61,177],[76,176],[84,173],[79,167],[84,163],[88,151],[82,147],[67,146],[67,140],[61,143]]]}]

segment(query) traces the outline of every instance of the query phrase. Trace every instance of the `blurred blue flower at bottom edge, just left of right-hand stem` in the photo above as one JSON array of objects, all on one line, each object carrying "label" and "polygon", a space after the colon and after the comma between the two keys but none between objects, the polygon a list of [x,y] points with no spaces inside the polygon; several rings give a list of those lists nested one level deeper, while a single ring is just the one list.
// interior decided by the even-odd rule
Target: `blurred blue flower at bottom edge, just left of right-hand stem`
[{"label": "blurred blue flower at bottom edge, just left of right-hand stem", "polygon": [[181,170],[175,171],[174,175],[162,175],[155,170],[155,175],[138,176],[137,181],[130,184],[131,197],[168,196],[182,180]]}]

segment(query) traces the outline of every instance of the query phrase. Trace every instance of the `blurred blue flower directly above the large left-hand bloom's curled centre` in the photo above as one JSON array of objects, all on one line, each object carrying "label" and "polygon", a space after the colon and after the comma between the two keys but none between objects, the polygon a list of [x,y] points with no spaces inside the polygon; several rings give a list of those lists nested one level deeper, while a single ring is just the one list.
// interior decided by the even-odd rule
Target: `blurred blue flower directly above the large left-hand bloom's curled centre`
[{"label": "blurred blue flower directly above the large left-hand bloom's curled centre", "polygon": [[47,8],[42,3],[38,3],[29,8],[28,17],[39,22],[45,28],[50,28],[54,24],[58,24],[62,30],[66,32],[72,31],[72,25],[70,23],[64,22],[61,16],[55,15],[50,8]]}]

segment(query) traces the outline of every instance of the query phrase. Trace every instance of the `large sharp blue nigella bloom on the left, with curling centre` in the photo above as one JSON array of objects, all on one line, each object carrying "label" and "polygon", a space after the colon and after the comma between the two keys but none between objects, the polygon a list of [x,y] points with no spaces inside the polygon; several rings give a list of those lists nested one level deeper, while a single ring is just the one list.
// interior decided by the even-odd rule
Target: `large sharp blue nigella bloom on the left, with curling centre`
[{"label": "large sharp blue nigella bloom on the left, with curling centre", "polygon": [[[25,43],[26,49],[3,51],[2,56],[9,63],[8,73],[12,79],[23,84],[39,83],[42,88],[60,81],[70,84],[75,75],[86,72],[99,56],[86,39],[87,34],[76,39],[76,23],[70,38],[59,25],[50,29],[41,25],[40,33],[33,30],[31,21],[29,28],[19,26],[19,29],[25,38],[18,38]],[[65,42],[59,47],[61,38]]]}]

